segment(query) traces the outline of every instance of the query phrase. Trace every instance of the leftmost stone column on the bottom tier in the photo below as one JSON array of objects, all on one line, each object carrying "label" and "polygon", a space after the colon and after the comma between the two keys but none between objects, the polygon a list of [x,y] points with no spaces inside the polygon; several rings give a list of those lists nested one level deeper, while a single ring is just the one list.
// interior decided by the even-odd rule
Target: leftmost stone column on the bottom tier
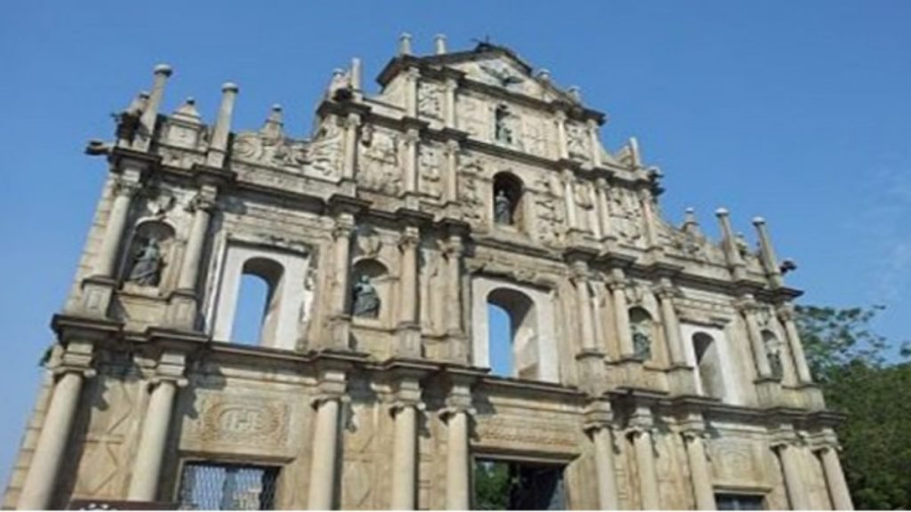
[{"label": "leftmost stone column on the bottom tier", "polygon": [[26,481],[22,485],[16,508],[41,510],[51,507],[57,474],[67,450],[70,429],[79,403],[79,393],[87,369],[64,368],[57,376],[54,394],[47,406],[41,434],[35,445]]}]

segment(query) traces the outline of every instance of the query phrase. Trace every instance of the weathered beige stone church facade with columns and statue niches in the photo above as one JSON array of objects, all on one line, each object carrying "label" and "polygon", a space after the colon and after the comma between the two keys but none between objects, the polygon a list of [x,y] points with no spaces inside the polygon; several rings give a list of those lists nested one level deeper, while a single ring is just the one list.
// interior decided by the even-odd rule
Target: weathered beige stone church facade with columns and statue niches
[{"label": "weathered beige stone church facade with columns and statue niches", "polygon": [[[375,96],[336,72],[310,138],[278,106],[232,132],[232,84],[211,126],[161,114],[155,69],[87,148],[109,177],[4,506],[193,501],[209,462],[271,468],[272,507],[467,508],[483,458],[558,467],[569,508],[851,507],[763,220],[755,250],[726,210],[720,243],[672,226],[578,90],[410,46]],[[254,346],[244,274],[270,290]]]}]

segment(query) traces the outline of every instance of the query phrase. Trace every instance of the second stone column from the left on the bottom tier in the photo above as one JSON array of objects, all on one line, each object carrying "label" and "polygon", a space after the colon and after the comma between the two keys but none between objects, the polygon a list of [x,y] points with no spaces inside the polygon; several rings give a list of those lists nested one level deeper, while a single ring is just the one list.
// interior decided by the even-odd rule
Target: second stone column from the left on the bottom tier
[{"label": "second stone column from the left on the bottom tier", "polygon": [[160,379],[151,385],[154,387],[148,399],[139,447],[133,458],[133,472],[127,493],[130,501],[155,501],[158,496],[161,462],[165,456],[165,443],[168,440],[171,410],[178,384],[170,379]]}]

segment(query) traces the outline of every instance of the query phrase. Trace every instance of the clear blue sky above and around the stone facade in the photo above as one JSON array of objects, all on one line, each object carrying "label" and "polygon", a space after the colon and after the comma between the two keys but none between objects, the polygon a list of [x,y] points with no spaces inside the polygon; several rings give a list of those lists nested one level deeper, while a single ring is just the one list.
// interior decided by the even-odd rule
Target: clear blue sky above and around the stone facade
[{"label": "clear blue sky above and around the stone facade", "polygon": [[[374,6],[382,5],[382,10]],[[0,16],[0,482],[5,486],[106,166],[82,155],[110,113],[175,69],[165,111],[187,96],[207,119],[241,86],[235,128],[272,103],[309,132],[333,67],[375,77],[402,31],[427,53],[445,33],[511,46],[608,112],[664,171],[664,214],[732,210],[769,221],[803,301],[882,303],[877,326],[908,337],[911,313],[911,2],[8,1]]]}]

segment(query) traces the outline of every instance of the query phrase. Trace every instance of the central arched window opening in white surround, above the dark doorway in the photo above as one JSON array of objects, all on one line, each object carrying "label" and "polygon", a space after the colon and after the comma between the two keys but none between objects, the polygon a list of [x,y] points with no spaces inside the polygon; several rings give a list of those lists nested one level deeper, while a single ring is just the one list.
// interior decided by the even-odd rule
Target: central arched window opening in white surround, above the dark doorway
[{"label": "central arched window opening in white surround, above the dark doorway", "polygon": [[[487,295],[487,305],[488,312],[496,311],[496,316],[488,316],[488,346],[494,373],[537,379],[539,364],[534,302],[522,292],[499,288]],[[500,325],[494,324],[495,321]],[[507,359],[509,365],[504,368],[503,362]]]}]

